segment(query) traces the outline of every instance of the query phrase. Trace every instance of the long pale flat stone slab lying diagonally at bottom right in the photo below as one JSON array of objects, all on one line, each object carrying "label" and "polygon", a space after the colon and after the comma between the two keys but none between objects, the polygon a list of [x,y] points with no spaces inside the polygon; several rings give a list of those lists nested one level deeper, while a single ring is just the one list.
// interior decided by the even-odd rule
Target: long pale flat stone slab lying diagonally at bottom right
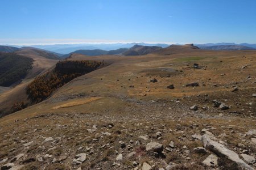
[{"label": "long pale flat stone slab lying diagonally at bottom right", "polygon": [[243,160],[239,158],[239,156],[237,155],[236,152],[234,152],[232,150],[229,150],[224,145],[222,145],[218,142],[212,141],[212,139],[210,139],[208,137],[208,135],[203,135],[202,136],[202,142],[203,142],[203,145],[206,149],[214,152],[216,155],[225,156],[229,160],[232,160],[233,162],[240,165],[240,167],[242,167],[242,168],[249,169],[249,170],[254,169],[254,168],[250,167],[250,165],[243,162]]}]

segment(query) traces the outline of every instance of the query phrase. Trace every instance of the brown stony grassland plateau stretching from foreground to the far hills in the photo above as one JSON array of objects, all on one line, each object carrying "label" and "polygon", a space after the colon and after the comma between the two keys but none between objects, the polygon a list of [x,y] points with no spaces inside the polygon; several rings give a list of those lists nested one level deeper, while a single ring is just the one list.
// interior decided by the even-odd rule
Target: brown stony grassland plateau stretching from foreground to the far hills
[{"label": "brown stony grassland plateau stretching from foreground to the far hills", "polygon": [[[134,57],[73,54],[69,59],[104,60],[110,65],[73,79],[42,103],[2,117],[1,165],[242,169],[192,136],[207,134],[256,168],[251,160],[256,151],[255,51],[196,50]],[[193,68],[194,63],[200,69]],[[154,78],[157,82],[150,82]],[[185,86],[195,82],[199,86]],[[171,84],[174,89],[167,88]],[[213,100],[228,109],[213,107]],[[148,150],[154,145],[150,142],[163,149],[156,145],[154,151]],[[197,147],[206,150],[197,152]],[[210,154],[216,161],[207,164],[204,160]]]}]

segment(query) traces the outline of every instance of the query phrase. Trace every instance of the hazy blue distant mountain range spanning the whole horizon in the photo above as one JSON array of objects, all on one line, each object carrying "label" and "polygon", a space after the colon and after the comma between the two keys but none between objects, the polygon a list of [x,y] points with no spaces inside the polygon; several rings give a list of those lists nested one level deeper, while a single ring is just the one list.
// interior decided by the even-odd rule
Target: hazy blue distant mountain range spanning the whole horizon
[{"label": "hazy blue distant mountain range spanning the whole horizon", "polygon": [[[179,44],[175,44],[179,45]],[[171,45],[172,46],[172,45]],[[204,50],[256,50],[256,44],[248,43],[207,43],[207,44],[195,44],[200,49]],[[179,47],[179,46],[177,46]],[[133,43],[114,43],[114,44],[55,44],[55,45],[32,45],[32,46],[1,46],[0,52],[15,52],[23,48],[34,48],[46,52],[52,59],[66,58],[70,54],[78,53],[86,56],[100,56],[100,55],[117,55],[123,56],[138,56],[145,55],[154,52],[155,50],[163,49],[170,52],[170,45],[168,44],[149,44],[144,42]],[[43,55],[43,54],[42,54]]]}]

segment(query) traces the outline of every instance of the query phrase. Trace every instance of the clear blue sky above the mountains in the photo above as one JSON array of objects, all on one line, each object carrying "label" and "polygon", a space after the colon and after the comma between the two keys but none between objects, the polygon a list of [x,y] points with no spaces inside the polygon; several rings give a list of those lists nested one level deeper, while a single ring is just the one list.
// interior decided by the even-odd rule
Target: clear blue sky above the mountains
[{"label": "clear blue sky above the mountains", "polygon": [[8,0],[0,44],[256,43],[255,0]]}]

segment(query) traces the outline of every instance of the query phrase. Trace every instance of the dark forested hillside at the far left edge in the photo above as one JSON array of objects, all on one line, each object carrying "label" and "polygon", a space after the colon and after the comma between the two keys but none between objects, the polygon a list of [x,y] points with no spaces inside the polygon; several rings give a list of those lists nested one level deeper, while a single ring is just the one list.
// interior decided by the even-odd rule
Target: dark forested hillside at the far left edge
[{"label": "dark forested hillside at the far left edge", "polygon": [[32,69],[32,62],[28,57],[0,52],[0,86],[8,87],[23,79]]}]

